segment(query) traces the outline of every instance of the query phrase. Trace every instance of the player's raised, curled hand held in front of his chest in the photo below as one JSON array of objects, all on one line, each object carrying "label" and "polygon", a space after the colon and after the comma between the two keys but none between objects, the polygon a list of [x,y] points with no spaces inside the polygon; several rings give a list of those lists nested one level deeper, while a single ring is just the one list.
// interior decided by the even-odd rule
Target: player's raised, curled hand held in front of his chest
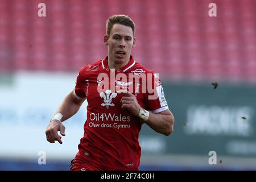
[{"label": "player's raised, curled hand held in front of his chest", "polygon": [[131,94],[128,90],[118,90],[117,93],[122,93],[121,105],[123,110],[128,110],[131,114],[137,116],[141,106],[139,105],[137,98],[134,94]]}]

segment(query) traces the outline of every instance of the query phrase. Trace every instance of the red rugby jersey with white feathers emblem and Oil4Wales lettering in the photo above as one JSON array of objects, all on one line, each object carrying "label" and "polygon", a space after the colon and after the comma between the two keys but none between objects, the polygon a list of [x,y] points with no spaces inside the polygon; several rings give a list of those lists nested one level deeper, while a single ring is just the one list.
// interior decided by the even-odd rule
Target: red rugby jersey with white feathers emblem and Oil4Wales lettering
[{"label": "red rugby jersey with white feathers emblem and Oil4Wales lettering", "polygon": [[[102,73],[105,77],[99,78]],[[127,80],[118,78],[118,73],[124,74],[119,76],[127,76]],[[146,78],[139,81],[129,80],[129,73],[134,76],[144,74]],[[152,78],[148,77],[148,73]],[[110,74],[113,79],[110,78]],[[150,81],[146,81],[148,79]],[[109,85],[102,87],[104,81]],[[146,93],[143,91],[145,82],[148,85],[152,84],[151,88],[154,88],[156,98],[148,99],[153,93],[147,89]],[[132,85],[131,89],[129,86]],[[102,90],[98,91],[98,87]],[[158,76],[136,63],[132,56],[128,64],[115,71],[109,69],[108,57],[85,65],[77,76],[74,89],[76,98],[81,100],[86,97],[88,101],[84,137],[80,140],[76,157],[81,160],[80,163],[88,163],[102,170],[138,170],[141,159],[138,138],[143,122],[129,111],[121,109],[120,101],[123,94],[118,94],[117,89],[130,89],[129,91],[137,97],[139,105],[153,113],[168,109]]]}]

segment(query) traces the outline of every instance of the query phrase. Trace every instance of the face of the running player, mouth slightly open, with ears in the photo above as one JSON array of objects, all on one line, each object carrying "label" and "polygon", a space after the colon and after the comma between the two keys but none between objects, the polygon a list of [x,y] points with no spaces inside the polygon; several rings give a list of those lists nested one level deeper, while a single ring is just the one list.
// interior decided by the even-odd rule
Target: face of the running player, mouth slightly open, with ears
[{"label": "face of the running player, mouth slightly open, with ears", "polygon": [[109,60],[114,64],[127,63],[130,59],[131,48],[135,45],[133,30],[129,26],[114,24],[109,38],[104,36],[104,42],[109,47]]}]

